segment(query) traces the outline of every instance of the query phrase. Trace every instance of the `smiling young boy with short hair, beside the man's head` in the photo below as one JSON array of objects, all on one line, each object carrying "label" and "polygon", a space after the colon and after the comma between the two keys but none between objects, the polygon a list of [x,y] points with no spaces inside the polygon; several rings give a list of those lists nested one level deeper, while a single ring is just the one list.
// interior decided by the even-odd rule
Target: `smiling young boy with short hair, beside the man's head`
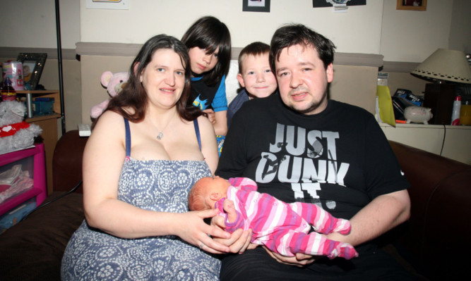
[{"label": "smiling young boy with short hair, beside the man's head", "polygon": [[234,113],[244,102],[249,99],[270,96],[278,87],[268,62],[269,53],[270,46],[262,42],[251,43],[240,52],[237,80],[244,89],[237,94],[227,108],[227,127],[229,127]]}]

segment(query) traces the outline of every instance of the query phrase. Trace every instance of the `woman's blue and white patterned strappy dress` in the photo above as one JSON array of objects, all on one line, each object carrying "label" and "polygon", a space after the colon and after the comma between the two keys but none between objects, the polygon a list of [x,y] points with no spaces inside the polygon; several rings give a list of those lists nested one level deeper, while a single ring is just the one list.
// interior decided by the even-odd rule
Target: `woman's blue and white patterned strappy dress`
[{"label": "woman's blue and white patterned strappy dress", "polygon": [[[118,199],[139,208],[184,213],[193,184],[211,175],[205,161],[137,161],[129,152],[121,169]],[[122,239],[92,229],[84,220],[66,247],[61,278],[218,280],[219,271],[217,258],[179,237]]]}]

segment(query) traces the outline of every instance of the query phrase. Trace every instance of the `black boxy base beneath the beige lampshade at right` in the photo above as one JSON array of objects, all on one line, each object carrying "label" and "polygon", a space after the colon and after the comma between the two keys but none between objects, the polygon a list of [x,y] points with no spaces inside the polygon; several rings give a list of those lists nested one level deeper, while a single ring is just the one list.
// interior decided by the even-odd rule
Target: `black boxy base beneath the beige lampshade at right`
[{"label": "black boxy base beneath the beige lampshade at right", "polygon": [[431,108],[431,113],[434,115],[429,120],[429,124],[451,124],[455,95],[456,85],[454,84],[427,83],[425,85],[424,107]]}]

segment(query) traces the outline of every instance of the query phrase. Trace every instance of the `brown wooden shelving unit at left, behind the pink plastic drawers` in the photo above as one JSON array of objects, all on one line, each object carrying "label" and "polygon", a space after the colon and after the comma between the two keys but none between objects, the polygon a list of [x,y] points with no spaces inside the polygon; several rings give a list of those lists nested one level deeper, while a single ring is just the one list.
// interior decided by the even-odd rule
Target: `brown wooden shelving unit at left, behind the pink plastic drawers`
[{"label": "brown wooden shelving unit at left, behind the pink plastic drawers", "polygon": [[52,193],[52,156],[56,142],[59,139],[57,122],[61,118],[61,105],[59,90],[42,90],[42,91],[16,91],[16,95],[20,97],[28,97],[30,100],[37,97],[54,98],[54,114],[50,115],[33,115],[32,118],[25,118],[25,122],[34,123],[41,127],[42,142],[44,143],[44,155],[46,157],[46,175],[47,175],[47,194]]}]

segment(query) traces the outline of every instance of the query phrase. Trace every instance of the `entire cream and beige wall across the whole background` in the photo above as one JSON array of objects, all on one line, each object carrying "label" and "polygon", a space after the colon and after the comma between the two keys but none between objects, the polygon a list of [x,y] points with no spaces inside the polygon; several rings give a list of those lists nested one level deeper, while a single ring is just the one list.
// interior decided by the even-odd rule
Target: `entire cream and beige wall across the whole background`
[{"label": "entire cream and beige wall across the whole background", "polygon": [[[234,47],[256,40],[269,42],[277,27],[295,22],[332,39],[341,53],[380,54],[385,63],[419,63],[442,47],[470,52],[471,1],[468,0],[428,0],[427,11],[398,11],[395,0],[369,0],[366,6],[350,6],[347,13],[312,8],[311,0],[272,0],[270,13],[242,12],[240,0],[178,0],[178,7],[174,0],[129,0],[129,10],[90,9],[85,1],[59,1],[62,47],[66,50],[76,51],[76,43],[80,42],[126,43],[132,47],[162,32],[181,37],[197,18],[215,15],[228,25]],[[2,0],[1,10],[0,57],[16,57],[2,56],[4,47],[49,48],[55,52],[54,1]],[[131,60],[128,54],[116,57],[87,54],[82,56],[82,61],[76,61],[73,56],[64,58],[67,130],[75,129],[77,123],[88,123],[90,108],[108,98],[100,86],[102,71],[127,70]],[[49,56],[40,81],[49,89],[59,85],[54,72],[56,65],[56,57]],[[358,66],[360,70],[362,66]],[[366,87],[365,91],[371,93],[376,78],[369,73],[375,66],[370,67],[363,76],[359,75],[362,71],[357,73],[350,66],[336,65],[331,96],[337,98],[337,93],[342,92],[345,99],[354,102],[359,99],[354,98],[357,94],[352,88]],[[405,88],[420,94],[424,90],[424,81],[412,77],[407,68],[384,71],[390,73],[391,92]]]}]

